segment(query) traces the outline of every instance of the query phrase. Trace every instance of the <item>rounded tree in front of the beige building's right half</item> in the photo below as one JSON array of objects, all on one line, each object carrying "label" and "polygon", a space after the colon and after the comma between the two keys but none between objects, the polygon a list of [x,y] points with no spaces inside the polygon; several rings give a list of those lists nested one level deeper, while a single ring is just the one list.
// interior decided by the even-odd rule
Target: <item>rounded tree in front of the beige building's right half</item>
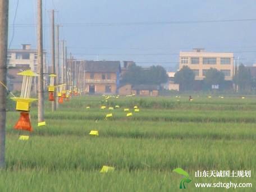
[{"label": "rounded tree in front of the beige building's right half", "polygon": [[207,84],[209,87],[212,85],[219,85],[221,86],[225,81],[225,75],[223,72],[218,71],[216,68],[210,68],[205,73],[205,84]]}]

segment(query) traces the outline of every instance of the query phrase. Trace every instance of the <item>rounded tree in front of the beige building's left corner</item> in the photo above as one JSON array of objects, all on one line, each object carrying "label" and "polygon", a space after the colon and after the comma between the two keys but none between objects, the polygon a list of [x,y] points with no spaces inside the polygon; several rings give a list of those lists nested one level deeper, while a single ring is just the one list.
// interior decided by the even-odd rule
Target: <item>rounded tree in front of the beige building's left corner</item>
[{"label": "rounded tree in front of the beige building's left corner", "polygon": [[174,82],[180,85],[180,90],[192,90],[194,80],[195,74],[188,66],[183,66],[174,76]]}]

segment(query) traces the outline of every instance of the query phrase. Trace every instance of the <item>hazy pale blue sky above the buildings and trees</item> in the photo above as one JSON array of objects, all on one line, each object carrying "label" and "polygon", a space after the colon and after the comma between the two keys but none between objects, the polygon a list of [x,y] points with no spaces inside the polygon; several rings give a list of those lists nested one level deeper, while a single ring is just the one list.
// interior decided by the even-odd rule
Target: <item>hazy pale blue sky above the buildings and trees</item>
[{"label": "hazy pale blue sky above the buildings and trees", "polygon": [[[36,2],[19,1],[11,48],[22,43],[36,47]],[[16,4],[17,0],[10,0],[9,40]],[[44,48],[48,53],[52,9],[58,11],[56,22],[63,25],[60,38],[67,40],[68,53],[76,58],[96,60],[98,54],[99,60],[133,60],[138,65],[160,64],[170,70],[177,65],[180,51],[200,47],[235,52],[245,65],[256,63],[256,21],[147,24],[256,19],[255,0],[43,0]],[[128,25],[130,22],[142,24]]]}]

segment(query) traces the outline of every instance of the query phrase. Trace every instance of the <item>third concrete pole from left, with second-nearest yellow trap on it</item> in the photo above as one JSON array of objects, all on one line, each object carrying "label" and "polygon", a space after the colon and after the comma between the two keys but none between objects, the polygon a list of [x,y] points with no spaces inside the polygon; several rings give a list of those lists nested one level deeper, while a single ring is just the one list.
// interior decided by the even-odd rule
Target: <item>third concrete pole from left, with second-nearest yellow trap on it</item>
[{"label": "third concrete pole from left, with second-nearest yellow trap on it", "polygon": [[[52,10],[52,74],[55,74],[55,36],[54,36],[54,10]],[[58,77],[57,77],[58,78]],[[54,86],[56,86],[56,79],[54,80]],[[54,101],[52,102],[52,112],[56,111],[56,92],[54,94]]]}]

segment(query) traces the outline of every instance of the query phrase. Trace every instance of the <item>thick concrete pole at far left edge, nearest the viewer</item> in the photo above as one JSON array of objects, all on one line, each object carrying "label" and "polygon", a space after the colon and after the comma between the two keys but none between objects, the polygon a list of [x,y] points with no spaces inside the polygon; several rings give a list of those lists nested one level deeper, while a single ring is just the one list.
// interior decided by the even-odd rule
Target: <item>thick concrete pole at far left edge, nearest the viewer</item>
[{"label": "thick concrete pole at far left edge, nearest the viewer", "polygon": [[[0,81],[6,85],[8,43],[8,0],[0,0]],[[6,89],[0,85],[0,168],[5,166]]]}]

